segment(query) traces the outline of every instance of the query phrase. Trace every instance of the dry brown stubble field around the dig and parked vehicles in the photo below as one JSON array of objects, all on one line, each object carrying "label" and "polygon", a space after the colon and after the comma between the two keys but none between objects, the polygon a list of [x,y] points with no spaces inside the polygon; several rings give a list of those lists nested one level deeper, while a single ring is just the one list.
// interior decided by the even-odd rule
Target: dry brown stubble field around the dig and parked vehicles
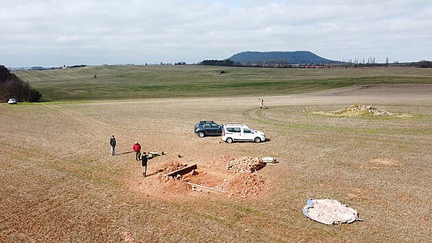
[{"label": "dry brown stubble field around the dig and parked vehicles", "polygon": [[[0,104],[0,242],[428,242],[431,93],[432,84],[371,84],[303,95]],[[313,113],[352,104],[405,115]],[[267,141],[199,138],[193,126],[202,119],[247,124]],[[167,152],[149,161],[151,176],[141,174],[134,141]],[[280,162],[253,173],[265,189],[248,196],[193,192],[154,174],[170,161],[199,163],[207,183],[230,181],[237,174],[224,170],[226,156]],[[314,222],[302,215],[307,198],[339,200],[364,221]]]}]

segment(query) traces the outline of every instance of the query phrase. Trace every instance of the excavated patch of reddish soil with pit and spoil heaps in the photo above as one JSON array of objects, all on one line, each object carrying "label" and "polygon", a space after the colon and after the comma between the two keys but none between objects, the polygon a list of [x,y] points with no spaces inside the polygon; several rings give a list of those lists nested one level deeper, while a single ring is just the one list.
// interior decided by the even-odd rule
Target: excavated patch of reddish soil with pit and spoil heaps
[{"label": "excavated patch of reddish soil with pit and spoil heaps", "polygon": [[[224,167],[214,166],[225,164]],[[254,174],[265,167],[259,158],[230,156],[215,158],[197,164],[197,168],[184,174],[166,176],[169,172],[176,172],[188,164],[169,161],[158,165],[152,174],[136,182],[128,180],[125,183],[134,194],[141,196],[157,196],[172,198],[194,192],[225,192],[225,196],[265,196],[273,187],[269,185],[263,175]]]}]

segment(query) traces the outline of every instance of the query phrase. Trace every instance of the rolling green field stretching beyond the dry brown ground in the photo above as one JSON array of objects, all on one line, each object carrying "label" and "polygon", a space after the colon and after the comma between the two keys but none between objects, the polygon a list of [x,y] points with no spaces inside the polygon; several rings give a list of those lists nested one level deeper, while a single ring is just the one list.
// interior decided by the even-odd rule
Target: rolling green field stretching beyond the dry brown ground
[{"label": "rolling green field stretching beyond the dry brown ground", "polygon": [[[225,73],[221,74],[221,71]],[[354,84],[432,83],[432,69],[267,69],[209,66],[97,66],[19,71],[43,101],[130,100],[311,93]],[[97,76],[97,78],[95,78]]]}]

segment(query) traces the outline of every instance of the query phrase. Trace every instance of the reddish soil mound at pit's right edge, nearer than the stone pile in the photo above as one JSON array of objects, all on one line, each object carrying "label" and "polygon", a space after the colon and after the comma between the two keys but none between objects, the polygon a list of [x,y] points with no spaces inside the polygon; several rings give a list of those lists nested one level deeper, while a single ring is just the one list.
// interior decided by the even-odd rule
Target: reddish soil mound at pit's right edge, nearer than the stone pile
[{"label": "reddish soil mound at pit's right edge, nearer than the stone pile", "polygon": [[243,173],[232,178],[226,189],[230,192],[230,196],[242,196],[246,198],[248,196],[258,196],[269,188],[264,176]]}]

